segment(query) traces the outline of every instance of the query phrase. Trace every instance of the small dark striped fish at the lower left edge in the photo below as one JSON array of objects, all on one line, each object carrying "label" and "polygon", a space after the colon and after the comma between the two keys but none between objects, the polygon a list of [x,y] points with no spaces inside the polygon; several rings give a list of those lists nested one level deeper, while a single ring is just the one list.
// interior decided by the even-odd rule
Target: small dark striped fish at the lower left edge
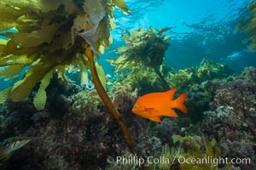
[{"label": "small dark striped fish at the lower left edge", "polygon": [[20,149],[28,142],[31,138],[28,137],[13,137],[3,140],[0,143],[0,162],[6,161],[9,159],[9,156],[12,156],[15,150]]}]

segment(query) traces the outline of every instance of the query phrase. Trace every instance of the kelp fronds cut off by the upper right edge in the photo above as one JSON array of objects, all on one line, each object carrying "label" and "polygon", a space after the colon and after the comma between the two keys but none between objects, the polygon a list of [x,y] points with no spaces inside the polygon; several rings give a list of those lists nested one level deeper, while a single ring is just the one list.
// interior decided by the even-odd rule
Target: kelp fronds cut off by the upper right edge
[{"label": "kelp fronds cut off by the upper right edge", "polygon": [[251,14],[244,20],[241,20],[236,26],[235,31],[247,33],[247,37],[243,42],[250,42],[248,49],[250,51],[256,51],[256,0],[247,6],[251,10]]}]

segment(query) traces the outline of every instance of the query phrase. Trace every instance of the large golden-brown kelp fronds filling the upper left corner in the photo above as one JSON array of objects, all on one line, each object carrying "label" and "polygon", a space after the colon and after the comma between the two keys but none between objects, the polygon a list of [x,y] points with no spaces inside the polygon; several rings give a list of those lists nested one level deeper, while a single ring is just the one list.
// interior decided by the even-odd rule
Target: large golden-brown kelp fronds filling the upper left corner
[{"label": "large golden-brown kelp fronds filling the upper left corner", "polygon": [[88,61],[83,44],[96,54],[112,43],[109,29],[114,28],[113,8],[129,13],[123,0],[3,0],[0,3],[0,31],[6,32],[6,44],[0,44],[0,77],[17,77],[24,68],[25,76],[0,92],[0,102],[26,99],[40,82],[34,97],[38,110],[44,108],[45,88],[53,73],[70,81],[65,71],[80,70],[81,84],[88,84]]}]

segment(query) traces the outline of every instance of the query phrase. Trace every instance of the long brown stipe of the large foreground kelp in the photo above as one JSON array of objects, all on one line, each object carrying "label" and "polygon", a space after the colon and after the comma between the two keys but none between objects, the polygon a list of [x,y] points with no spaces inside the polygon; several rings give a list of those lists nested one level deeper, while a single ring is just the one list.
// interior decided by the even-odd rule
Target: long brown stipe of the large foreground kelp
[{"label": "long brown stipe of the large foreground kelp", "polygon": [[98,77],[98,74],[96,71],[96,65],[94,63],[94,53],[92,50],[90,50],[89,45],[85,45],[83,48],[84,48],[84,54],[87,57],[87,59],[89,60],[91,76],[92,76],[92,80],[95,84],[96,91],[100,95],[104,104],[108,107],[108,110],[113,115],[116,122],[118,122],[119,127],[121,127],[121,129],[125,135],[125,139],[128,143],[129,150],[131,152],[134,152],[134,143],[133,143],[133,140],[131,137],[131,133],[130,133],[128,127],[126,127],[125,123],[121,120],[119,111],[117,111],[115,109],[115,107],[113,106],[113,103],[109,99],[108,94],[105,91],[105,89],[103,88],[102,82],[100,81],[100,78]]}]

